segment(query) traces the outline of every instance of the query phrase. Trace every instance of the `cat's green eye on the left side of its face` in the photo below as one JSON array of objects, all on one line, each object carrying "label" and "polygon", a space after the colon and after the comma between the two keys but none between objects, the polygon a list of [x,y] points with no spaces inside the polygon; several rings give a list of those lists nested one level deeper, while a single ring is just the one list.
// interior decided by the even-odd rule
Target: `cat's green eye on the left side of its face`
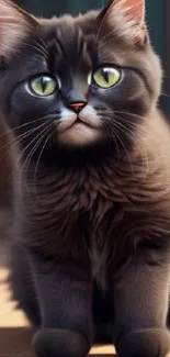
[{"label": "cat's green eye on the left side of its face", "polygon": [[54,78],[48,76],[41,76],[32,79],[31,83],[32,91],[42,97],[50,96],[57,88],[57,82]]}]

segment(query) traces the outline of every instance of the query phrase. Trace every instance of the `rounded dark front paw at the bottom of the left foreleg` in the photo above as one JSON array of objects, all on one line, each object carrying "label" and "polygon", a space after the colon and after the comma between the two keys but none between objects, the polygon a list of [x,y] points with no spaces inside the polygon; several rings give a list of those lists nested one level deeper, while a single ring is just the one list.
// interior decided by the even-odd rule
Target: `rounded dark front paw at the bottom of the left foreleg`
[{"label": "rounded dark front paw at the bottom of the left foreleg", "polygon": [[33,337],[37,357],[86,357],[90,347],[83,335],[68,330],[45,328]]}]

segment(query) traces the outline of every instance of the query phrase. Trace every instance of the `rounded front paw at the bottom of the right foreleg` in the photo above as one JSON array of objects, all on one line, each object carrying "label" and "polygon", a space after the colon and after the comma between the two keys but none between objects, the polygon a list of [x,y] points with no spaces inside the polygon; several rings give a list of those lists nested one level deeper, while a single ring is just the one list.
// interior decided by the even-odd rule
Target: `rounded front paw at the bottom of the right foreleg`
[{"label": "rounded front paw at the bottom of the right foreleg", "polygon": [[120,357],[167,357],[170,333],[161,328],[146,328],[122,335],[115,344]]}]

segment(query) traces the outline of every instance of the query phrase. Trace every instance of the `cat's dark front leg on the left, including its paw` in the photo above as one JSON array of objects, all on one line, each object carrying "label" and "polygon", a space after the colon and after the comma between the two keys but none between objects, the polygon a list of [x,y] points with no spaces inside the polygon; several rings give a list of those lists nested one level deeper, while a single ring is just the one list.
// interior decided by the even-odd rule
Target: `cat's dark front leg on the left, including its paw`
[{"label": "cat's dark front leg on the left, including its paw", "polygon": [[92,342],[92,282],[76,264],[35,261],[42,328],[34,335],[38,357],[84,357]]}]

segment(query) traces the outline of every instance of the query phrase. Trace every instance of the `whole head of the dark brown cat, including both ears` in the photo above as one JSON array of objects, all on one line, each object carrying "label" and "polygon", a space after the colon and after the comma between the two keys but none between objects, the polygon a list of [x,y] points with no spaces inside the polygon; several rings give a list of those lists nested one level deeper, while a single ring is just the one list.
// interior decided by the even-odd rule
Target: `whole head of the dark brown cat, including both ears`
[{"label": "whole head of the dark brown cat, including both ears", "polygon": [[0,59],[1,111],[33,155],[101,145],[125,153],[160,93],[144,0],[52,20],[0,0]]}]

